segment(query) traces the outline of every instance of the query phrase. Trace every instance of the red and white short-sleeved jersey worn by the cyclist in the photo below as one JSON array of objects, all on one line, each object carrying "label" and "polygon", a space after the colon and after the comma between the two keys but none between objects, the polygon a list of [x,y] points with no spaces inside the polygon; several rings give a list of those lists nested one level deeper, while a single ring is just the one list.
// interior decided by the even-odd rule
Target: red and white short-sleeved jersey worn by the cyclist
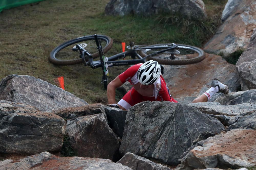
[{"label": "red and white short-sleeved jersey worn by the cyclist", "polygon": [[[142,63],[131,66],[125,72],[120,74],[118,77],[121,80],[121,82],[125,83],[126,81],[129,81],[132,85],[137,84],[139,82],[138,78],[137,78],[137,71],[141,65],[142,65]],[[159,79],[154,83],[153,96],[146,97],[146,98],[149,101],[163,100],[163,101],[177,102],[170,95],[169,89],[166,86],[166,83],[165,83],[164,78],[162,77],[162,74],[160,75]]]}]

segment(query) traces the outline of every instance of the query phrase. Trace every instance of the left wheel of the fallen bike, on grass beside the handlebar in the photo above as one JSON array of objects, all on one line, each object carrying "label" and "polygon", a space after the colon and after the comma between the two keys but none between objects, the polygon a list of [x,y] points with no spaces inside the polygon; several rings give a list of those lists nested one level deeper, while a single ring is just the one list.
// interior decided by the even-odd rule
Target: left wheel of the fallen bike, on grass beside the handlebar
[{"label": "left wheel of the fallen bike, on grass beside the handlebar", "polygon": [[[101,41],[103,52],[108,52],[113,45],[112,39],[105,35],[98,35],[98,39]],[[81,44],[84,49],[92,54],[93,58],[99,57],[99,51],[95,43],[94,35],[89,35],[75,38],[59,45],[51,51],[49,60],[56,65],[62,66],[82,63],[83,60],[79,50],[75,50],[77,44]]]}]

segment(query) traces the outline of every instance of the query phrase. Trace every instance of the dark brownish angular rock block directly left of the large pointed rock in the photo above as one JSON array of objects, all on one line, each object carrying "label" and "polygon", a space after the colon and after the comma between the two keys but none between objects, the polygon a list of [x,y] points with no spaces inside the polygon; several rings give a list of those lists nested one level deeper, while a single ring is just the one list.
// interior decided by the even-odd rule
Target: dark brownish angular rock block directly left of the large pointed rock
[{"label": "dark brownish angular rock block directly left of the large pointed rock", "polygon": [[66,133],[78,156],[119,159],[119,141],[104,114],[77,117],[67,121]]}]

